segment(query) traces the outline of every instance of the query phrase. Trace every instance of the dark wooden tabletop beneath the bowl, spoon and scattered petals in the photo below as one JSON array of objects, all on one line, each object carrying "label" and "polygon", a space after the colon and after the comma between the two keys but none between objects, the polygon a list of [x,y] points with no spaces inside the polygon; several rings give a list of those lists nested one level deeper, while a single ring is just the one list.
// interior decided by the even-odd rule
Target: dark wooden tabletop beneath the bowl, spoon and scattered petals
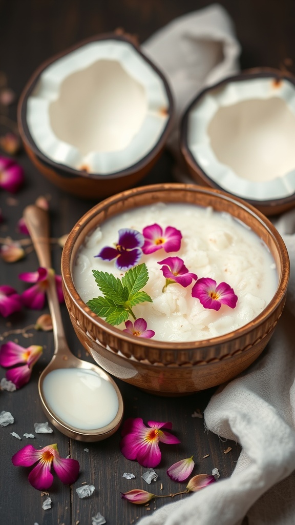
[{"label": "dark wooden tabletop beneath the bowl, spoon and scattered petals", "polygon": [[[242,68],[281,67],[288,59],[288,68],[293,70],[290,61],[294,58],[295,44],[293,0],[224,0],[221,3],[236,24],[237,36],[243,48]],[[139,41],[143,42],[173,18],[209,4],[206,0],[0,0],[0,70],[5,72],[9,87],[19,96],[41,62],[83,38],[123,27],[127,32],[138,35]],[[16,104],[9,108],[7,116],[16,119]],[[5,217],[5,222],[0,226],[1,237],[10,235],[15,239],[23,238],[17,232],[17,220],[22,217],[24,207],[34,203],[39,195],[49,199],[52,237],[68,233],[95,204],[59,191],[38,173],[24,152],[20,153],[17,161],[24,167],[26,183],[13,199],[5,191],[0,193],[0,207]],[[172,165],[173,159],[165,152],[142,184],[172,181]],[[61,249],[52,246],[53,266],[58,273],[60,256]],[[20,292],[26,285],[18,280],[18,274],[36,270],[37,267],[34,251],[13,264],[0,260],[0,285],[9,284]],[[42,313],[47,312],[46,307]],[[23,309],[9,320],[0,318],[0,334],[34,324],[40,313]],[[65,306],[62,307],[62,317],[70,348],[82,359],[89,359],[73,332]],[[40,344],[44,346],[44,353],[26,386],[16,392],[0,392],[0,411],[11,412],[15,419],[14,424],[0,427],[1,525],[33,525],[35,522],[39,525],[91,525],[91,517],[98,511],[106,518],[108,525],[128,525],[153,512],[154,508],[167,500],[152,501],[148,507],[133,506],[120,498],[120,492],[143,488],[160,493],[161,483],[162,493],[182,490],[183,486],[166,476],[167,467],[178,459],[194,455],[194,474],[211,474],[215,467],[221,477],[231,474],[240,453],[239,445],[224,443],[218,436],[206,432],[202,418],[192,417],[197,409],[203,412],[214,389],[188,397],[158,398],[117,381],[125,404],[124,418],[142,417],[145,422],[149,419],[171,421],[175,434],[181,439],[180,445],[162,446],[162,461],[155,469],[159,478],[153,485],[147,485],[141,479],[145,468],[121,455],[120,432],[103,442],[86,444],[70,440],[54,429],[53,434],[35,434],[31,440],[22,437],[19,442],[12,432],[20,436],[24,433],[34,434],[34,423],[46,421],[38,398],[37,384],[38,376],[53,352],[52,332],[34,329],[29,332],[33,334],[29,338],[11,334],[3,341],[14,340],[23,346]],[[1,370],[0,379],[4,375],[5,371]],[[72,486],[64,486],[55,477],[49,490],[52,500],[49,510],[42,508],[46,496],[42,496],[27,481],[29,469],[12,465],[13,454],[28,443],[37,448],[57,443],[62,456],[70,454],[80,463],[79,479]],[[225,454],[224,450],[229,446],[232,449]],[[85,451],[85,448],[89,450]],[[123,479],[125,471],[133,472],[135,479]],[[79,499],[77,496],[76,488],[83,482],[95,487],[90,498]]]}]

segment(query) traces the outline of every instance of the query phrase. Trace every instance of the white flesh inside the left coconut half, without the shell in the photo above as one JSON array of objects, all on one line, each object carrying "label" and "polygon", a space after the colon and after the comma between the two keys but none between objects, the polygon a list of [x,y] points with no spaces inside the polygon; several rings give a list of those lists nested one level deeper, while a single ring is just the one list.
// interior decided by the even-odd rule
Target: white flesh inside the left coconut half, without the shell
[{"label": "white flesh inside the left coconut half, without the shell", "polygon": [[27,124],[52,161],[107,175],[156,146],[169,104],[162,78],[131,44],[99,40],[41,73],[28,98]]}]

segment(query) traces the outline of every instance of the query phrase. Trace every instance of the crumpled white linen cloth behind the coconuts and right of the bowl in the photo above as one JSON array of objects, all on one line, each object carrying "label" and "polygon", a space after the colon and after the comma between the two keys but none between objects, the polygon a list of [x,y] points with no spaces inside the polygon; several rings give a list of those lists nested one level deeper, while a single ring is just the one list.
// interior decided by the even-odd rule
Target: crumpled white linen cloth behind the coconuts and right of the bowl
[{"label": "crumpled white linen cloth behind the coconuts and right of the bowl", "polygon": [[[237,70],[239,46],[227,13],[215,4],[176,19],[142,47],[172,86],[170,146],[177,158],[185,106],[202,87]],[[239,525],[245,516],[248,525],[295,524],[295,211],[276,227],[291,260],[286,307],[260,358],[222,385],[204,413],[208,430],[243,447],[233,475],[168,503],[140,525]]]}]

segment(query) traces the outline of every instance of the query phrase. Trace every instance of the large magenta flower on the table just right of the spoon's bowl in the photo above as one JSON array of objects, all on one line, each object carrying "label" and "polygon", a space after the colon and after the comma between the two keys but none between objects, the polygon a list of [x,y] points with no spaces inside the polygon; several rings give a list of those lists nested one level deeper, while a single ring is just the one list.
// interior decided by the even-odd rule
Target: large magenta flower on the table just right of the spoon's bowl
[{"label": "large magenta flower on the table just right of the spoon's bowl", "polygon": [[180,443],[180,440],[162,430],[172,428],[172,423],[157,423],[148,421],[150,428],[146,427],[141,417],[130,417],[122,428],[120,448],[127,459],[136,459],[143,467],[156,467],[161,461],[159,442],[167,444]]}]

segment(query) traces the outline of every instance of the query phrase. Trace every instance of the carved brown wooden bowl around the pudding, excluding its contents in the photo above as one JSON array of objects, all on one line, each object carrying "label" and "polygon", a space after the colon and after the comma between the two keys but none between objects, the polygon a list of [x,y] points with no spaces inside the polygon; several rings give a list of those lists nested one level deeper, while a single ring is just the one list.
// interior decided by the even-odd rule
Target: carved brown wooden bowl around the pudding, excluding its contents
[{"label": "carved brown wooden bowl around the pudding, excluding its contents", "polygon": [[[275,259],[278,287],[266,308],[243,327],[196,342],[136,338],[97,317],[82,301],[72,268],[85,237],[106,219],[157,202],[212,206],[249,226]],[[119,379],[158,395],[183,395],[235,377],[264,350],[285,304],[289,257],[276,228],[254,207],[224,192],[187,184],[156,184],[114,195],[94,206],[73,227],[61,260],[66,305],[79,340],[93,359]]]}]

